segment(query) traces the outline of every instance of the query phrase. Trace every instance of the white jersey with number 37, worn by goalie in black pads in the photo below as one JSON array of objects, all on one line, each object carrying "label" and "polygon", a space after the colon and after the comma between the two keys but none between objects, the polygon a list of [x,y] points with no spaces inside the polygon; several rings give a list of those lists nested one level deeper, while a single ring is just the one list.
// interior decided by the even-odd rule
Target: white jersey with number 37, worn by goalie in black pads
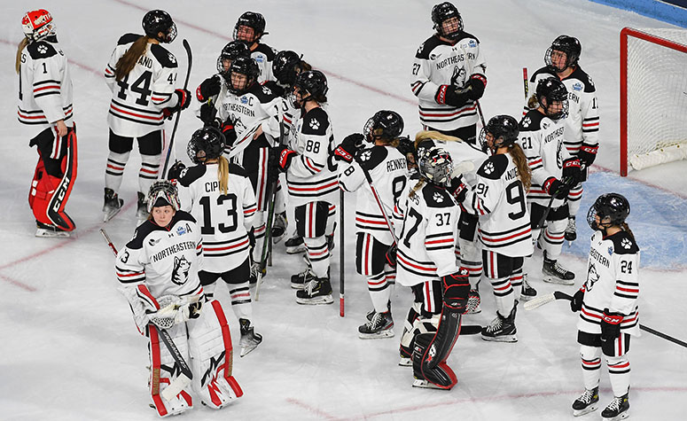
[{"label": "white jersey with number 37, worn by goalie in black pads", "polygon": [[[403,214],[396,253],[396,280],[403,286],[437,280],[458,271],[455,245],[458,206],[448,191],[432,183],[408,197],[402,192],[397,210]],[[403,200],[408,198],[407,200]]]}]

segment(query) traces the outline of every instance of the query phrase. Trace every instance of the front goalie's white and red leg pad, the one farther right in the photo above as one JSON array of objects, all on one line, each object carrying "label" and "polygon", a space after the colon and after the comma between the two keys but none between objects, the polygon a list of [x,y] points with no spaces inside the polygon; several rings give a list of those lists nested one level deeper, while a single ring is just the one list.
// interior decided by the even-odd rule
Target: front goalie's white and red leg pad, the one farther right
[{"label": "front goalie's white and red leg pad, the one farther right", "polygon": [[212,409],[220,409],[243,395],[231,375],[233,348],[222,305],[212,300],[197,319],[187,322],[193,368],[193,388]]}]

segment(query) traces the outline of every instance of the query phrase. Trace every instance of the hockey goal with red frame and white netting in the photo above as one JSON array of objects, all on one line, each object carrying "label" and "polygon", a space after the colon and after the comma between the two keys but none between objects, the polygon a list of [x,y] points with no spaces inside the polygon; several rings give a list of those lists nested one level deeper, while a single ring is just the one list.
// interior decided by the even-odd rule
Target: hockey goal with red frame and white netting
[{"label": "hockey goal with red frame and white netting", "polygon": [[621,30],[621,175],[687,158],[687,30]]}]

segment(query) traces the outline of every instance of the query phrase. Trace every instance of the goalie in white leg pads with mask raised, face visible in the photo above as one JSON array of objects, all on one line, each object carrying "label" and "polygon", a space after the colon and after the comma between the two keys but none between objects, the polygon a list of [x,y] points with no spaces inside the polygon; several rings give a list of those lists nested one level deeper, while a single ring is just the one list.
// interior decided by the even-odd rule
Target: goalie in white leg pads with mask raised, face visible
[{"label": "goalie in white leg pads with mask raised, face visible", "polygon": [[[176,186],[168,181],[152,183],[147,203],[149,219],[120,250],[115,272],[138,331],[149,340],[152,406],[160,417],[180,414],[193,406],[192,388],[203,404],[220,409],[243,391],[231,376],[231,336],[222,306],[205,297],[199,282],[201,229],[179,210]],[[162,345],[160,330],[191,366],[191,388],[182,384],[172,396],[165,389],[183,379],[181,366]]]}]

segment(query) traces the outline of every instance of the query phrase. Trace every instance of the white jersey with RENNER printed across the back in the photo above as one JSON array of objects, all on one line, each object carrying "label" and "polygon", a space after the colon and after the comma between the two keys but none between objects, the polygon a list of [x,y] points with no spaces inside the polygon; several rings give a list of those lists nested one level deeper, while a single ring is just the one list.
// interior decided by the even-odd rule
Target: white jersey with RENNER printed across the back
[{"label": "white jersey with RENNER printed across the back", "polygon": [[406,159],[393,146],[374,145],[359,152],[350,164],[339,167],[340,188],[343,191],[357,191],[355,228],[358,232],[371,234],[380,243],[390,245],[394,238],[389,233],[386,219],[381,214],[363,169],[370,174],[386,217],[393,228],[394,206],[408,183]]}]

